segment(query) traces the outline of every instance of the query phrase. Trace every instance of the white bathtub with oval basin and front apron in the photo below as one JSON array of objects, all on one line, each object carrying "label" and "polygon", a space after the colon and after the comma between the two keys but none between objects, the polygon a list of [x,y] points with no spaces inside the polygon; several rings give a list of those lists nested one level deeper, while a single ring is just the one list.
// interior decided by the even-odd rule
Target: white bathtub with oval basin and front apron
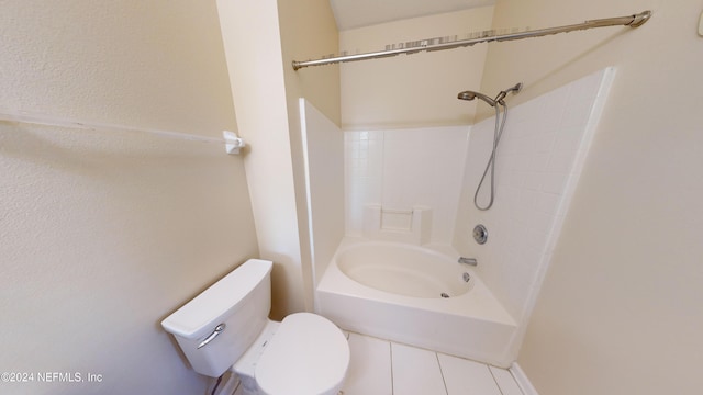
[{"label": "white bathtub with oval basin and front apron", "polygon": [[507,368],[515,321],[458,257],[346,237],[317,285],[316,313],[349,331]]}]

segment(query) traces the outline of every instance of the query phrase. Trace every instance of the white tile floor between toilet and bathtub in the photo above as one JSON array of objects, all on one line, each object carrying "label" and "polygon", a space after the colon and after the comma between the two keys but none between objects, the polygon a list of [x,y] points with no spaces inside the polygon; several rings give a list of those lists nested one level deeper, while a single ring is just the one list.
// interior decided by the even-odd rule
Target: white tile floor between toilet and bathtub
[{"label": "white tile floor between toilet and bathtub", "polygon": [[344,395],[523,395],[505,369],[358,334],[348,339]]}]

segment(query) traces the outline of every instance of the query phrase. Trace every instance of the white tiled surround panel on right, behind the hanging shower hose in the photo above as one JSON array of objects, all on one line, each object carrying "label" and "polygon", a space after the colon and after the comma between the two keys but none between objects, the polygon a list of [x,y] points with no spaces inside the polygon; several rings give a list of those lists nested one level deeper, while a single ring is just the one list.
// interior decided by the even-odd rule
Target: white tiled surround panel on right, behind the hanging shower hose
[{"label": "white tiled surround panel on right, behind the hanging shower hose", "polygon": [[[613,72],[601,70],[510,110],[495,202],[486,212],[473,207],[473,193],[491,153],[494,119],[471,131],[454,246],[478,258],[481,279],[518,323],[534,304]],[[483,246],[471,237],[476,224],[488,227]]]}]

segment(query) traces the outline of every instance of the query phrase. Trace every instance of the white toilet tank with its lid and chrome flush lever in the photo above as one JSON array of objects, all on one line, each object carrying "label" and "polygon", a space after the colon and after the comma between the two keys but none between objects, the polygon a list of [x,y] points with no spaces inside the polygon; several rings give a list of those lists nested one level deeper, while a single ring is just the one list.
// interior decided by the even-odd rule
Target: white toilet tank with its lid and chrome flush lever
[{"label": "white toilet tank with its lid and chrome flush lever", "polygon": [[196,372],[219,377],[257,338],[271,309],[272,266],[247,260],[161,321]]}]

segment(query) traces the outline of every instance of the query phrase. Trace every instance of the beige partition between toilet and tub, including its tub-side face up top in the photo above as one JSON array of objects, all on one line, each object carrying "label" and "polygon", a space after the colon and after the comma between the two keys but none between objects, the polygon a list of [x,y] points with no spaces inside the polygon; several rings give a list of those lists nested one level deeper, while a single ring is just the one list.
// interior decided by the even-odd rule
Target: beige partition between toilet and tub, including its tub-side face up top
[{"label": "beige partition between toilet and tub, including its tub-side face up top", "polygon": [[[338,122],[338,72],[295,74],[292,60],[336,52],[324,0],[217,0],[232,93],[246,156],[261,257],[276,262],[271,316],[312,309],[304,170],[298,98]],[[253,34],[255,32],[255,34]]]}]

